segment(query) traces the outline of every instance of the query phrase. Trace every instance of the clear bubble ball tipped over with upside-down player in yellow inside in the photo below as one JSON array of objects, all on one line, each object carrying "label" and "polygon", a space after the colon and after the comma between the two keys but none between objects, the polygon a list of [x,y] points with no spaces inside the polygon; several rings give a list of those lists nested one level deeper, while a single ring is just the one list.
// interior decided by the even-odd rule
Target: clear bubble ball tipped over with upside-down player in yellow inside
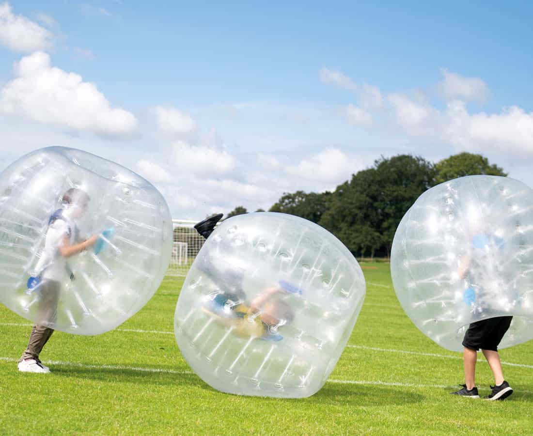
[{"label": "clear bubble ball tipped over with upside-down player in yellow inside", "polygon": [[174,317],[192,369],[223,392],[308,397],[352,333],[365,279],[348,249],[302,218],[250,213],[222,222],[183,284]]}]

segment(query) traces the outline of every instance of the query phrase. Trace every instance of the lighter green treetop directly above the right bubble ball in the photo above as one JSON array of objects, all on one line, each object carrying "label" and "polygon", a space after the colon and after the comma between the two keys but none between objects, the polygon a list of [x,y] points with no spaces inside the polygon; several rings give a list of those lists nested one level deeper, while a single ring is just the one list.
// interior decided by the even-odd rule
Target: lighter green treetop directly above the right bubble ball
[{"label": "lighter green treetop directly above the right bubble ball", "polygon": [[496,164],[490,165],[486,157],[466,152],[442,159],[435,165],[435,169],[437,170],[437,176],[435,176],[435,182],[437,183],[466,175],[487,174],[504,177],[507,175],[507,173],[504,173],[503,168]]}]

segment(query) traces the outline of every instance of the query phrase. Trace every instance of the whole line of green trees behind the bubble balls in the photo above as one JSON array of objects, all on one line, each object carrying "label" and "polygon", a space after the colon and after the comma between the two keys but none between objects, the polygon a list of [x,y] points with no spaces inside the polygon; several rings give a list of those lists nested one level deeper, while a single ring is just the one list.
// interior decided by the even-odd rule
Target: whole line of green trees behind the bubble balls
[{"label": "whole line of green trees behind the bubble balls", "polygon": [[[400,220],[425,190],[475,174],[507,175],[486,157],[466,152],[438,163],[420,156],[382,156],[333,192],[285,192],[269,212],[296,215],[321,225],[358,257],[389,257]],[[244,213],[247,209],[237,206],[226,219]]]}]

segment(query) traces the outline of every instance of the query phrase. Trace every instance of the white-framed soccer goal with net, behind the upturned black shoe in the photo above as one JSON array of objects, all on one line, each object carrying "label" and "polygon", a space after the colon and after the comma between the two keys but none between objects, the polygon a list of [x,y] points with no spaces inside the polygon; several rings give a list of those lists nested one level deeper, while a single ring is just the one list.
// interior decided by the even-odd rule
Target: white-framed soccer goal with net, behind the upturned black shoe
[{"label": "white-framed soccer goal with net, behind the upturned black shoe", "polygon": [[167,270],[168,276],[187,276],[192,262],[204,245],[204,238],[193,228],[198,221],[172,220],[174,245]]}]

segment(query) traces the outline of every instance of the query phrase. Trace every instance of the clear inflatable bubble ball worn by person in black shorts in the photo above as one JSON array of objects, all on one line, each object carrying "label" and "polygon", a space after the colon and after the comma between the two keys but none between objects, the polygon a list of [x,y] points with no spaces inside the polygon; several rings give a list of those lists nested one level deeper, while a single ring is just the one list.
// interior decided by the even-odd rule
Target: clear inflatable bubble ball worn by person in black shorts
[{"label": "clear inflatable bubble ball worn by person in black shorts", "polygon": [[398,226],[394,289],[415,325],[461,351],[472,322],[513,316],[500,348],[533,338],[533,190],[476,175],[424,192]]}]

